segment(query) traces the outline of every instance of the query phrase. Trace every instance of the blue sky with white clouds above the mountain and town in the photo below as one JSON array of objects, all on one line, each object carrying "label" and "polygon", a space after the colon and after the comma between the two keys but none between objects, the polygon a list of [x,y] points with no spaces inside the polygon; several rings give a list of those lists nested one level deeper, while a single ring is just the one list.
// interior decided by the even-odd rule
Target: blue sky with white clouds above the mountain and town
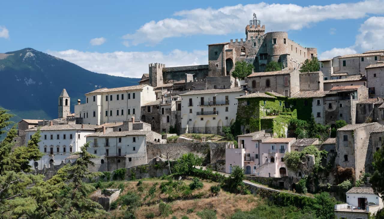
[{"label": "blue sky with white clouds above the mountain and town", "polygon": [[384,1],[35,1],[0,3],[0,53],[31,47],[111,75],[151,62],[206,64],[207,44],[245,38],[256,12],[320,58],[383,49]]}]

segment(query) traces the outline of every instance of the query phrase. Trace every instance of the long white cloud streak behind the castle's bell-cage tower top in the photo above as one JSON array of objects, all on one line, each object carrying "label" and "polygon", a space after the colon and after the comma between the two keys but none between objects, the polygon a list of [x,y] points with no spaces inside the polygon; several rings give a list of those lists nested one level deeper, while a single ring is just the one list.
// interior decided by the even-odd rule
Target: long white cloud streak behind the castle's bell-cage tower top
[{"label": "long white cloud streak behind the castle's bell-cage tower top", "polygon": [[145,23],[135,33],[123,36],[130,44],[159,43],[164,38],[189,35],[223,35],[243,32],[245,24],[257,13],[262,24],[269,30],[300,30],[314,23],[329,19],[356,19],[368,13],[382,14],[383,0],[366,0],[357,3],[311,5],[249,4],[227,6],[218,9],[198,8],[174,13],[174,17]]}]

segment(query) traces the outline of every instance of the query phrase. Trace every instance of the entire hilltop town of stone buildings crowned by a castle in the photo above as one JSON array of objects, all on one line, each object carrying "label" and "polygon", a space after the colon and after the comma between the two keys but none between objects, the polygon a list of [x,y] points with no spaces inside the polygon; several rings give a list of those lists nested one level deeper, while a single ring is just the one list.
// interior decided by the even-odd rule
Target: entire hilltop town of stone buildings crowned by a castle
[{"label": "entire hilltop town of stone buildings crowned by a castle", "polygon": [[[208,45],[208,65],[150,63],[137,85],[90,90],[74,111],[63,88],[58,118],[22,119],[14,148],[39,132],[43,156],[29,165],[46,179],[89,143],[97,156],[91,172],[157,162],[170,171],[169,161],[193,153],[217,173],[237,166],[252,182],[291,192],[334,191],[350,181],[341,192],[346,204],[334,213],[368,218],[384,207],[369,184],[384,139],[384,49],[318,60],[316,71],[303,71],[317,56],[287,32],[265,33],[254,15],[245,38]],[[252,72],[236,77],[242,63]]]}]

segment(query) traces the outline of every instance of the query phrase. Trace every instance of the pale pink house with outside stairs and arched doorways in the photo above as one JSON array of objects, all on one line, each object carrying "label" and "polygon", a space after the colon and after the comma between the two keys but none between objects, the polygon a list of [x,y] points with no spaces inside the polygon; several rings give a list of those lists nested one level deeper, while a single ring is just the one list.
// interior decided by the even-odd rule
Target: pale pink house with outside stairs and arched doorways
[{"label": "pale pink house with outside stairs and arched doorways", "polygon": [[287,176],[284,155],[291,151],[295,138],[271,138],[265,131],[238,135],[238,148],[225,150],[225,172],[240,166],[245,174],[261,177]]}]

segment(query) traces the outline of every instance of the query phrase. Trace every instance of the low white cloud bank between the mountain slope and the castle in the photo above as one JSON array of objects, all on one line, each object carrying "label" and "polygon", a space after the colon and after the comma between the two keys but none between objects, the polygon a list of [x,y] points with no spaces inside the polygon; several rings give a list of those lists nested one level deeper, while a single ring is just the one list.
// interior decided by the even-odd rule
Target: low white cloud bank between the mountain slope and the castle
[{"label": "low white cloud bank between the mountain slope and the castle", "polygon": [[78,50],[47,51],[47,53],[75,63],[89,71],[132,78],[140,78],[143,73],[148,73],[150,62],[165,63],[168,67],[204,65],[208,62],[205,50],[192,52],[173,50],[167,54],[161,51],[97,53]]}]

